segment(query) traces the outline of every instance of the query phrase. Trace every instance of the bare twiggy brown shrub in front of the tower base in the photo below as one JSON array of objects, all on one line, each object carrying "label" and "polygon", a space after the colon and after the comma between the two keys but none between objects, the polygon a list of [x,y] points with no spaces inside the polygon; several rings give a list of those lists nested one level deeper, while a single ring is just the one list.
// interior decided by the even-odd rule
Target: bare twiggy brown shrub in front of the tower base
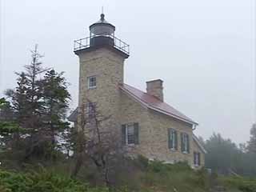
[{"label": "bare twiggy brown shrub in front of the tower base", "polygon": [[115,127],[109,123],[110,116],[102,115],[98,110],[97,104],[86,100],[78,116],[77,137],[74,147],[74,158],[76,159],[73,176],[76,176],[83,166],[85,159],[97,167],[100,179],[106,186],[111,187],[114,183],[114,177],[118,172],[118,164],[121,164],[124,158],[125,148],[121,145],[120,138],[116,134]]}]

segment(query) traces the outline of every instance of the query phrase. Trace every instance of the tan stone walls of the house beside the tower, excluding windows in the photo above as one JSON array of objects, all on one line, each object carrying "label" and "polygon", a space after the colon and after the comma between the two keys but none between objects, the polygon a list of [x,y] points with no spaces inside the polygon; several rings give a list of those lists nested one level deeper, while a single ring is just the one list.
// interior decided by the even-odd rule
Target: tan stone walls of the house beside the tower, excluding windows
[{"label": "tan stone walls of the house beside the tower, excluding windows", "polygon": [[[194,166],[194,151],[201,153],[201,166],[204,165],[204,154],[194,142],[192,126],[189,123],[149,110],[127,94],[121,94],[121,124],[138,122],[139,145],[129,146],[131,154],[142,154],[146,158],[164,162],[188,162]],[[178,131],[178,150],[168,147],[168,129]],[[184,154],[181,150],[181,133],[189,134],[190,153]]]}]

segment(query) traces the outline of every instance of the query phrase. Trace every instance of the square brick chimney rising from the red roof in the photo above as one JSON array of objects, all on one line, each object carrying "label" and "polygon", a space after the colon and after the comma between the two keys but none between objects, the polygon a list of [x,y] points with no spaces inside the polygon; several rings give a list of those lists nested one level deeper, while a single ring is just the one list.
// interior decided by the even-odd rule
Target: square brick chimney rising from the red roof
[{"label": "square brick chimney rising from the red roof", "polygon": [[163,102],[163,93],[162,93],[162,80],[156,79],[149,82],[146,82],[146,93],[153,95]]}]

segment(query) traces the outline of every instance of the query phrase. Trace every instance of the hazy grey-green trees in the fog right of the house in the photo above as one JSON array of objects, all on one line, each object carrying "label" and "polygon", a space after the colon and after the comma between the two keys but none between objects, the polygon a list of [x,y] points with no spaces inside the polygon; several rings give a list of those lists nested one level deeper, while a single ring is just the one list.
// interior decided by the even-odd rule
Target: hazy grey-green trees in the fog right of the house
[{"label": "hazy grey-green trees in the fog right of the house", "polygon": [[[201,141],[202,142],[202,141]],[[248,153],[221,134],[213,134],[203,143],[206,148],[206,167],[218,174],[256,174],[256,154]]]}]

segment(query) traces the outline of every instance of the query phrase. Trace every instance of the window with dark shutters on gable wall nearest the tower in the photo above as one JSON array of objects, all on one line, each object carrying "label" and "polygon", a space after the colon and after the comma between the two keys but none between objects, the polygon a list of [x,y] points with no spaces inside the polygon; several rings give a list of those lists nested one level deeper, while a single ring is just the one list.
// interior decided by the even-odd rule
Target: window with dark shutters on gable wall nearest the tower
[{"label": "window with dark shutters on gable wall nearest the tower", "polygon": [[125,145],[138,144],[138,123],[122,125],[122,143]]}]

